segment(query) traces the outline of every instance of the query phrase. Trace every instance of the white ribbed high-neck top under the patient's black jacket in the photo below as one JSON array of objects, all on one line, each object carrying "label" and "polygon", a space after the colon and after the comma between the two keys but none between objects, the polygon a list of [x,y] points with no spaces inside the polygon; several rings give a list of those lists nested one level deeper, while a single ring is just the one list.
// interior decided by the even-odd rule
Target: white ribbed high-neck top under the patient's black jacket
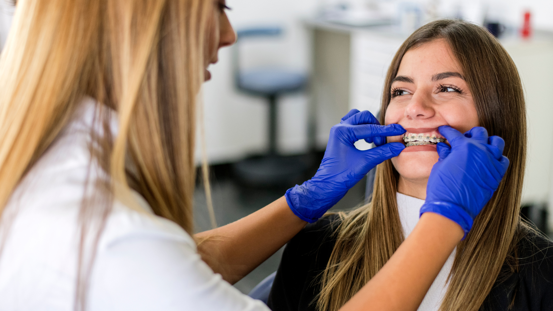
[{"label": "white ribbed high-neck top under the patient's black jacket", "polygon": [[[413,198],[413,196],[397,193],[398,200],[398,212],[399,219],[401,220],[401,226],[403,227],[403,234],[405,238],[413,232],[416,223],[419,221],[419,211],[424,204],[424,200]],[[453,250],[449,258],[447,258],[444,267],[438,273],[436,279],[430,286],[426,296],[422,299],[418,311],[437,311],[440,309],[440,305],[444,300],[444,296],[449,286],[447,277],[453,266],[453,260],[455,260],[455,252],[457,248]]]}]

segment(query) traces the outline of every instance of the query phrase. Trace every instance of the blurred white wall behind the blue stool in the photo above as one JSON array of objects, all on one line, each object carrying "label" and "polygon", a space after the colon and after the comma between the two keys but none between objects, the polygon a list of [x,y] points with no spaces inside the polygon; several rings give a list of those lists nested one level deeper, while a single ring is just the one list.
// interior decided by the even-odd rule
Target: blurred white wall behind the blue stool
[{"label": "blurred white wall behind the blue stool", "polygon": [[[254,43],[244,44],[261,50],[259,56],[249,56],[244,67],[282,65],[296,70],[308,70],[310,43],[301,20],[315,12],[316,0],[228,0],[232,8],[229,19],[236,30],[259,25],[284,27],[281,39],[265,40],[269,49]],[[232,80],[231,49],[219,53],[219,62],[210,67],[212,80],[204,85],[206,148],[210,163],[224,163],[267,148],[267,113],[264,99],[239,94]],[[279,148],[282,153],[300,153],[307,146],[307,96],[294,94],[281,97],[279,104]],[[200,142],[199,142],[200,143]],[[196,148],[197,158],[200,148]]]}]

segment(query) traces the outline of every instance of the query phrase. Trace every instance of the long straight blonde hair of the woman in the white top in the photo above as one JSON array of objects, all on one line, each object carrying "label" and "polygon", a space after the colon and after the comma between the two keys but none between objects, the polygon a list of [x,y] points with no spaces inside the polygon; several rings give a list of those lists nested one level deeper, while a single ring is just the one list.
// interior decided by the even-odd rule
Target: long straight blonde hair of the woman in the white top
[{"label": "long straight blonde hair of the woman in the white top", "polygon": [[81,206],[76,309],[85,305],[96,247],[85,258],[84,241],[92,234],[97,242],[111,198],[132,201],[134,189],[156,215],[193,233],[196,99],[210,14],[208,0],[17,3],[0,59],[0,212],[84,96],[102,115],[107,107],[118,115],[117,137],[107,133],[91,147],[109,178],[92,182],[97,191]]}]

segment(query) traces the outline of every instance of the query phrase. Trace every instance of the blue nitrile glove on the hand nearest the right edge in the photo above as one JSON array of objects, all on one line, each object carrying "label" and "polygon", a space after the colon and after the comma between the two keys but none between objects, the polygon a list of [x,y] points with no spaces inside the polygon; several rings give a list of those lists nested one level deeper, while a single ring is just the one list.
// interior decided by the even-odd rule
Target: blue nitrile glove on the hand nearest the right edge
[{"label": "blue nitrile glove on the hand nearest the right edge", "polygon": [[488,137],[483,127],[473,127],[465,134],[450,126],[440,126],[439,131],[451,147],[437,143],[440,158],[432,167],[420,215],[435,212],[445,216],[457,222],[467,236],[474,217],[492,198],[507,172],[505,142],[498,136]]}]

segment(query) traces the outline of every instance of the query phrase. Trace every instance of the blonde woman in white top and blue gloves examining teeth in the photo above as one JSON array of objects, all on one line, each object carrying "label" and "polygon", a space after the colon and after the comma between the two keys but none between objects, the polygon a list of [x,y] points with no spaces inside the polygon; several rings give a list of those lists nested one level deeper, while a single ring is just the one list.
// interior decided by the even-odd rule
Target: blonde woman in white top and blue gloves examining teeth
[{"label": "blonde woman in white top and blue gloves examining teeth", "polygon": [[[225,8],[224,0],[18,1],[0,60],[1,310],[268,310],[231,284],[404,149],[383,141],[401,126],[353,111],[333,128],[313,179],[192,237],[196,100],[217,50],[235,40]],[[458,139],[444,144],[451,153],[433,172],[437,184],[480,200],[429,202],[447,207],[423,214],[341,310],[416,309],[470,229],[463,215],[478,214],[507,168],[502,140],[484,136],[452,132]],[[358,151],[353,142],[363,138],[382,146]],[[467,154],[479,161],[448,178],[467,167]],[[492,186],[468,187],[469,175]]]}]

